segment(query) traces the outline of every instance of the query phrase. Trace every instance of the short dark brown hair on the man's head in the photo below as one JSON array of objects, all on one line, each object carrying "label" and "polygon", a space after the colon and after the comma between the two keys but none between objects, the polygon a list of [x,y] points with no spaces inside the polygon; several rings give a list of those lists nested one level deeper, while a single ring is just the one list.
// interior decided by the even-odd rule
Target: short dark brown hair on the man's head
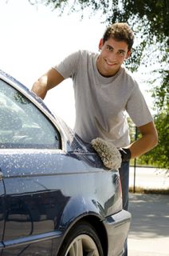
[{"label": "short dark brown hair on the man's head", "polygon": [[124,41],[128,44],[128,50],[132,49],[134,34],[127,23],[118,22],[108,26],[104,32],[103,43],[109,38],[113,38],[117,41]]}]

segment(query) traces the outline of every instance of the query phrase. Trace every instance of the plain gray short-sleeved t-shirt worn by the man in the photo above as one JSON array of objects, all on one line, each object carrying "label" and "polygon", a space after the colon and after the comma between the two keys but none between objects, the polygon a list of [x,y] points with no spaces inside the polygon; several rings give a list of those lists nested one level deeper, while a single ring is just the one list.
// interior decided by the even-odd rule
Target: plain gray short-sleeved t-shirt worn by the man
[{"label": "plain gray short-sleeved t-shirt worn by the man", "polygon": [[130,143],[127,115],[136,126],[151,122],[152,116],[137,82],[124,67],[112,77],[103,77],[96,68],[98,54],[79,50],[54,68],[72,78],[75,94],[74,130],[86,142],[100,137],[117,147]]}]

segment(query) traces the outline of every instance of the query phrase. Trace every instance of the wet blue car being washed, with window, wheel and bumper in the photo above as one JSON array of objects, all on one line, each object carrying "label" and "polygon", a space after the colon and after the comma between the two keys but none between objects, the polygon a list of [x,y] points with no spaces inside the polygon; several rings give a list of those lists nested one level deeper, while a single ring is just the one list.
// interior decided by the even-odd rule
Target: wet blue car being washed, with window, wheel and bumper
[{"label": "wet blue car being washed, with window, wheel and bumper", "polygon": [[130,221],[118,170],[0,71],[0,255],[120,256]]}]

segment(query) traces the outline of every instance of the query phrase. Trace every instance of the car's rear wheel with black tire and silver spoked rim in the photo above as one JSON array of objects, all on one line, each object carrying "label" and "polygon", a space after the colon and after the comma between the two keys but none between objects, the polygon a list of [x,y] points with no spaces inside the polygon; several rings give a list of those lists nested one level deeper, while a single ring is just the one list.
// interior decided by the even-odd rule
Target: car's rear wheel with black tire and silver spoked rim
[{"label": "car's rear wheel with black tire and silver spoked rim", "polygon": [[79,222],[67,234],[58,255],[104,256],[104,253],[96,230],[88,222]]}]

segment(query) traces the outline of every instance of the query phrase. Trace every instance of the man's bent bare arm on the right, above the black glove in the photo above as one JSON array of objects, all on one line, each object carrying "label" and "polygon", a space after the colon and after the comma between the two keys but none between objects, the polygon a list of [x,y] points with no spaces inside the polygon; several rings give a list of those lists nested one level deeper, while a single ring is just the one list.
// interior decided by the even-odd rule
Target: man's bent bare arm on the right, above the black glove
[{"label": "man's bent bare arm on the right, above the black glove", "polygon": [[140,155],[147,153],[158,143],[158,134],[154,122],[149,122],[138,128],[142,137],[128,147],[131,151],[132,158],[137,158],[140,157]]}]

